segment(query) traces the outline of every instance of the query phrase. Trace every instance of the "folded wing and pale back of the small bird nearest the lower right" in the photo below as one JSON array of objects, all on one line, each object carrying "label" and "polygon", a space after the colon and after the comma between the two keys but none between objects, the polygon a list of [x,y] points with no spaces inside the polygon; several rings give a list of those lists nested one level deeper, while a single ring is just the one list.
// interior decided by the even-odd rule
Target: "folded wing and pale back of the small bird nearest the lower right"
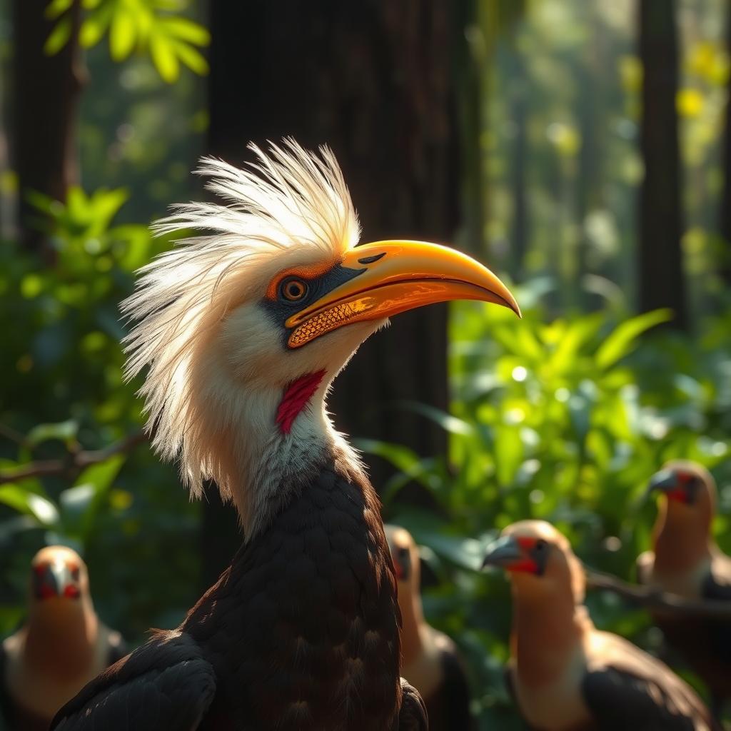
[{"label": "folded wing and pale back of the small bird nearest the lower right", "polygon": [[667,665],[618,635],[594,633],[583,698],[601,730],[709,731],[708,709]]}]

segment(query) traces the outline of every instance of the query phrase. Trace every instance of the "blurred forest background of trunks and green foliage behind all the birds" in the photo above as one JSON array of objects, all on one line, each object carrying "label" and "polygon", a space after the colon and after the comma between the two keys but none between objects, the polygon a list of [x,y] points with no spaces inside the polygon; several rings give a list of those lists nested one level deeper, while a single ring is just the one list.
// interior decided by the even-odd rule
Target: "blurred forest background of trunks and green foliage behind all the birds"
[{"label": "blurred forest background of trunks and green foliage behind all the birds", "polygon": [[[133,642],[230,557],[215,493],[190,503],[139,436],[117,306],[171,245],[147,224],[203,195],[197,156],[294,134],[333,145],[367,238],[450,240],[515,283],[520,322],[459,303],[380,334],[333,411],[422,546],[475,713],[520,728],[507,583],[476,570],[496,531],[546,518],[632,579],[646,481],[686,457],[719,481],[731,551],[731,7],[303,5],[0,2],[0,634],[45,543],[83,552]],[[588,602],[659,651],[645,612]]]}]

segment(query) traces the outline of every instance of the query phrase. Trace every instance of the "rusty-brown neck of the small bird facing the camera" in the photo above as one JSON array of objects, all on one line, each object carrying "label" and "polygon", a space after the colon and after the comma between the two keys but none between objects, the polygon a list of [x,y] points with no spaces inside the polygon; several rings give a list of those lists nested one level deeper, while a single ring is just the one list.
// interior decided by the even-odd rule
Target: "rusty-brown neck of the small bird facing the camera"
[{"label": "rusty-brown neck of the small bird facing the camera", "polygon": [[74,676],[94,662],[99,618],[91,602],[36,605],[25,628],[24,663],[43,675]]}]

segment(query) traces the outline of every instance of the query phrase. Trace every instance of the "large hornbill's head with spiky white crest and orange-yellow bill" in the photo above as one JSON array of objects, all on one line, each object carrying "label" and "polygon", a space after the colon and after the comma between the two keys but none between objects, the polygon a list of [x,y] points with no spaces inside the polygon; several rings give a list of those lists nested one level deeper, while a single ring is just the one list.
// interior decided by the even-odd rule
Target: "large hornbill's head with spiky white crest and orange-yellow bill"
[{"label": "large hornbill's head with spiky white crest and orange-yellow bill", "polygon": [[253,482],[244,462],[296,461],[321,446],[314,432],[339,439],[324,412],[327,388],[389,317],[453,299],[519,314],[504,284],[458,251],[356,246],[357,217],[327,148],[311,154],[289,140],[252,149],[258,162],[247,170],[203,161],[208,188],[228,205],[182,205],[161,221],[160,232],[205,235],[145,267],[122,306],[136,321],[127,375],[148,366],[141,393],[154,446],[181,457],[194,493],[216,480],[245,527],[254,508],[244,504]]}]

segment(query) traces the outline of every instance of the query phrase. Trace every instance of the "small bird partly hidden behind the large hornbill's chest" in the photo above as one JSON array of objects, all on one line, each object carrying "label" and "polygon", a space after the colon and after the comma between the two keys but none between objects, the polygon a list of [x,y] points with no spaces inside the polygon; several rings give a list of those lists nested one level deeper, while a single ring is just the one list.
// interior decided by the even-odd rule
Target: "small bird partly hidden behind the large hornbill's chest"
[{"label": "small bird partly hidden behind the large hornbill's chest", "polygon": [[455,643],[427,624],[421,606],[419,554],[412,535],[386,524],[401,610],[401,674],[424,700],[430,731],[469,731],[469,683]]}]

